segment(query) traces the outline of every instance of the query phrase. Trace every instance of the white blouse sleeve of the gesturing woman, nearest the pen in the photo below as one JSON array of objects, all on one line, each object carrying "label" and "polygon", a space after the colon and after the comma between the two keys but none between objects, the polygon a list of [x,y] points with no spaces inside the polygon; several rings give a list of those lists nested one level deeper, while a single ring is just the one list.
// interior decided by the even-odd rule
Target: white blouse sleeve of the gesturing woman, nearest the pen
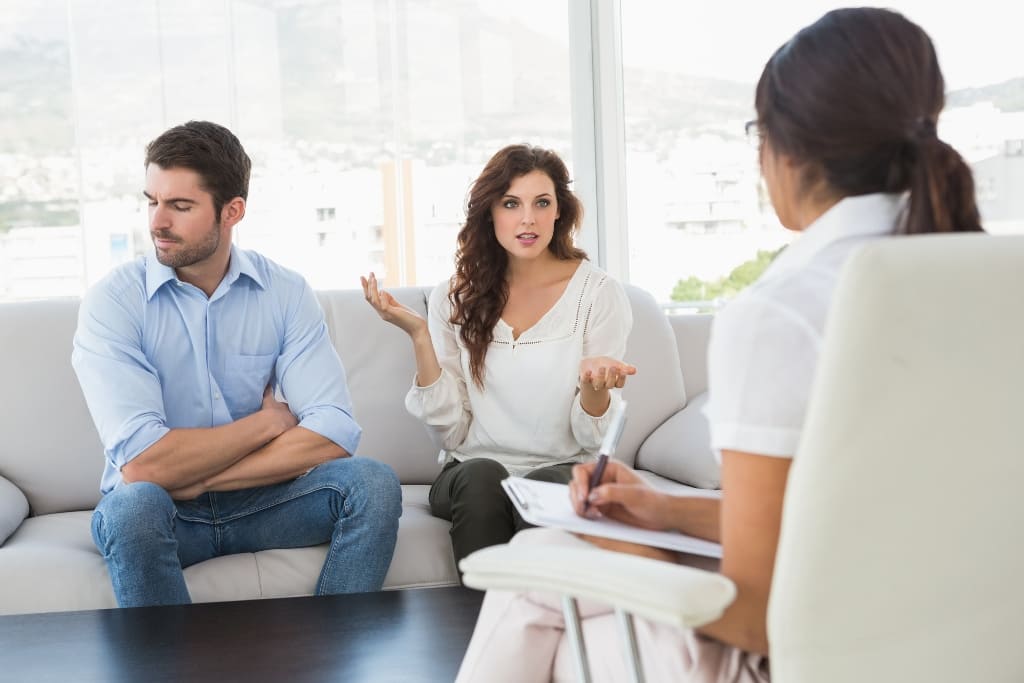
[{"label": "white blouse sleeve of the gesturing woman, nearest the pen", "polygon": [[[626,360],[626,342],[633,329],[633,308],[626,290],[618,282],[605,278],[599,285],[594,304],[587,319],[583,338],[583,357],[606,355]],[[617,389],[610,391],[608,409],[602,415],[590,415],[583,410],[579,394],[572,401],[569,416],[572,436],[587,451],[596,451],[608,430],[614,409],[623,400]]]}]

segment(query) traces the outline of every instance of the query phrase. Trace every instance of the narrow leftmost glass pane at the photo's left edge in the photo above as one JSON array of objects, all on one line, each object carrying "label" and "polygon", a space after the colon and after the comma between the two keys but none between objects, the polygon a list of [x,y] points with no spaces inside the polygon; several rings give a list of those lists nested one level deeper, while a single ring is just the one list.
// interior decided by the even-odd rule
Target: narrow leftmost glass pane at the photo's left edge
[{"label": "narrow leftmost glass pane at the photo's left edge", "polygon": [[63,0],[0,4],[0,300],[81,290],[71,73]]}]

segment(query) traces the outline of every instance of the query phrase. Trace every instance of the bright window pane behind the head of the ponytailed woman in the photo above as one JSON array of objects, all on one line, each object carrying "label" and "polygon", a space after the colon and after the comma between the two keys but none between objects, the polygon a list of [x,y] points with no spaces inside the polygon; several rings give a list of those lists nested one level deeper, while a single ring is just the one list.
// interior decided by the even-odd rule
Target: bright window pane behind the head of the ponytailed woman
[{"label": "bright window pane behind the head of the ponytailed woman", "polygon": [[[715,308],[793,237],[743,131],[761,70],[839,5],[622,5],[631,280],[669,307]],[[1018,24],[1006,4],[980,5],[893,3],[935,42],[948,88],[939,134],[972,165],[986,228],[1024,232],[1024,196],[1013,191],[1024,182]]]}]

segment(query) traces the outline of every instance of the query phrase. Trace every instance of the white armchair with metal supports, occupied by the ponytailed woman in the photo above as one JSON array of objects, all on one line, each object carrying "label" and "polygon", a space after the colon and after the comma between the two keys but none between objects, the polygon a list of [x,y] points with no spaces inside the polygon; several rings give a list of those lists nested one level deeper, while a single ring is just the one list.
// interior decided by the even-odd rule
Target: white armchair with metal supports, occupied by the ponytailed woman
[{"label": "white armchair with metal supports, occupied by the ponytailed woman", "polygon": [[[1022,394],[1024,237],[891,239],[851,258],[786,489],[773,681],[1024,680]],[[686,628],[734,595],[689,567],[532,550],[475,553],[464,580],[564,594],[570,640],[572,597]]]}]

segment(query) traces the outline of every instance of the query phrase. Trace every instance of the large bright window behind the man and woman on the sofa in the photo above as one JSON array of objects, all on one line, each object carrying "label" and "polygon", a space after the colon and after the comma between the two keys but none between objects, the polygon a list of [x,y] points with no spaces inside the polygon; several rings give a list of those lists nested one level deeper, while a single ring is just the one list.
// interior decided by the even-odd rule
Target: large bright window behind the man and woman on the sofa
[{"label": "large bright window behind the man and woman on the sofa", "polygon": [[4,2],[0,300],[78,296],[152,249],[144,145],[189,119],[253,158],[239,245],[315,288],[440,281],[495,152],[571,164],[567,16],[567,0]]}]

